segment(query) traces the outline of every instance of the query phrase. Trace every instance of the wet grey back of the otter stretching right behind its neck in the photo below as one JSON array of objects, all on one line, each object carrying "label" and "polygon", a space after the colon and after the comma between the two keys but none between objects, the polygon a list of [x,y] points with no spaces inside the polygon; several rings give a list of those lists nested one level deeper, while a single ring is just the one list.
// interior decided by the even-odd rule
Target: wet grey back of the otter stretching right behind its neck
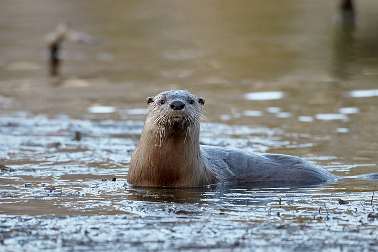
[{"label": "wet grey back of the otter stretching right behind its neck", "polygon": [[337,178],[318,165],[290,155],[205,145],[201,146],[201,153],[205,165],[217,174],[220,182],[320,183]]}]

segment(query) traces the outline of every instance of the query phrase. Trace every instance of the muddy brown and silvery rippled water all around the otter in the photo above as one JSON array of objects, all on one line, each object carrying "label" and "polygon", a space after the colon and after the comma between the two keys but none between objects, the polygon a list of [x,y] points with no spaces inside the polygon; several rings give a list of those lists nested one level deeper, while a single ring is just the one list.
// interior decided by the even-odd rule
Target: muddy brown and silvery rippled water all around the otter
[{"label": "muddy brown and silvery rippled water all around the otter", "polygon": [[[203,144],[378,172],[377,7],[353,25],[330,1],[2,1],[1,250],[378,249],[376,181],[126,179],[144,99],[168,89],[206,98]],[[44,36],[65,20],[100,42],[64,42],[51,78]]]}]

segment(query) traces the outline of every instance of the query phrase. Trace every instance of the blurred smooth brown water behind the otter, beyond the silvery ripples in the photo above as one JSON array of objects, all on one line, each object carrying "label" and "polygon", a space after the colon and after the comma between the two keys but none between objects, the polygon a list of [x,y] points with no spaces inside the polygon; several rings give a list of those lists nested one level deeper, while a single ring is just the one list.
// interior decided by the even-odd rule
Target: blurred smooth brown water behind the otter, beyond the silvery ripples
[{"label": "blurred smooth brown water behind the otter, beyond the silvery ripples", "polygon": [[[206,98],[210,122],[321,140],[273,152],[378,162],[376,10],[375,0],[349,14],[336,0],[3,0],[0,108],[144,120],[146,97],[188,89]],[[61,22],[96,42],[63,41],[51,76],[46,35]]]}]

